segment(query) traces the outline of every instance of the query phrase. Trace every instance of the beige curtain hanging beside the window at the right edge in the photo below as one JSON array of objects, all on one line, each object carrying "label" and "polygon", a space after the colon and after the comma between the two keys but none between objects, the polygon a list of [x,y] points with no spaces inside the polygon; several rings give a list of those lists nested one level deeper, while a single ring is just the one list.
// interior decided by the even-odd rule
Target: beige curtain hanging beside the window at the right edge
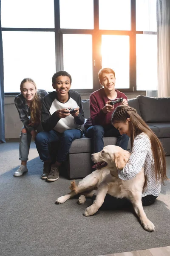
[{"label": "beige curtain hanging beside the window at the right edge", "polygon": [[170,0],[157,0],[158,97],[170,96]]}]

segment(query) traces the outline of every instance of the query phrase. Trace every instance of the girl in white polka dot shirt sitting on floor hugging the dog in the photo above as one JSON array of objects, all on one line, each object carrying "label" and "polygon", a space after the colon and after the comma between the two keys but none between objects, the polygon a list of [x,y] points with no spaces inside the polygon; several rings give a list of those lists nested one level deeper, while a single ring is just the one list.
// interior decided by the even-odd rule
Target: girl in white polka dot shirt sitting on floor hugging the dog
[{"label": "girl in white polka dot shirt sitting on floor hugging the dog", "polygon": [[[153,204],[161,191],[161,183],[168,180],[165,153],[159,139],[137,111],[129,106],[118,106],[113,111],[111,123],[121,135],[127,134],[131,142],[131,155],[125,167],[118,170],[119,178],[130,180],[144,167],[142,204]],[[107,194],[101,209],[128,208],[131,205],[126,198],[114,198]]]}]

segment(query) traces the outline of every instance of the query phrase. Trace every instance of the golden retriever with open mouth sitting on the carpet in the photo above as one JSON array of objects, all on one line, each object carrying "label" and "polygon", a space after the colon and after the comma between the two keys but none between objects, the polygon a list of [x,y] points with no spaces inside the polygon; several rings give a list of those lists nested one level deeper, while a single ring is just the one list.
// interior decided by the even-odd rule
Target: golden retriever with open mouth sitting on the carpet
[{"label": "golden retriever with open mouth sitting on the carpet", "polygon": [[153,232],[155,226],[147,218],[142,206],[142,189],[145,180],[144,169],[142,168],[141,172],[131,180],[121,180],[117,174],[117,170],[124,168],[129,157],[130,153],[128,151],[115,145],[108,145],[99,153],[92,154],[92,160],[96,163],[93,167],[97,170],[81,180],[78,186],[73,181],[70,187],[72,191],[68,195],[58,198],[56,203],[62,204],[76,194],[81,194],[79,204],[83,204],[85,197],[92,197],[95,192],[94,189],[97,189],[96,199],[85,210],[85,216],[94,215],[102,206],[108,193],[116,198],[129,199],[144,229]]}]

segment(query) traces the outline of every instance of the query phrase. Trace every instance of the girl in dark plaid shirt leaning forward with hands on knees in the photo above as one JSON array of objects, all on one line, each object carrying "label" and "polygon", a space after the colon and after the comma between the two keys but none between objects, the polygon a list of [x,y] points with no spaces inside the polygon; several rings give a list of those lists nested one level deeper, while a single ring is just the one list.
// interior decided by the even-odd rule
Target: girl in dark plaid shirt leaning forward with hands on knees
[{"label": "girl in dark plaid shirt leaning forward with hands on knees", "polygon": [[14,99],[15,106],[23,122],[23,128],[20,135],[20,160],[21,165],[14,176],[21,176],[24,172],[28,172],[27,160],[31,137],[35,140],[38,132],[42,131],[41,126],[41,108],[42,99],[48,93],[45,90],[37,90],[35,82],[31,78],[25,78],[20,84],[21,93]]}]

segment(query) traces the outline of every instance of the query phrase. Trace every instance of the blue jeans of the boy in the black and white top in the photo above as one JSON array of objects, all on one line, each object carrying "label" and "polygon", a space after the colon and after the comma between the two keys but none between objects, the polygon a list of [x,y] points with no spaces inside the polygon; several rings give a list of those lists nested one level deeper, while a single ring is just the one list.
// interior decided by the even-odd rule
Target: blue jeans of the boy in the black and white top
[{"label": "blue jeans of the boy in the black and white top", "polygon": [[[41,160],[62,163],[66,160],[71,143],[81,137],[82,131],[79,129],[65,130],[63,133],[42,131],[35,137],[35,144]],[[50,150],[51,143],[54,145],[53,150]]]}]

